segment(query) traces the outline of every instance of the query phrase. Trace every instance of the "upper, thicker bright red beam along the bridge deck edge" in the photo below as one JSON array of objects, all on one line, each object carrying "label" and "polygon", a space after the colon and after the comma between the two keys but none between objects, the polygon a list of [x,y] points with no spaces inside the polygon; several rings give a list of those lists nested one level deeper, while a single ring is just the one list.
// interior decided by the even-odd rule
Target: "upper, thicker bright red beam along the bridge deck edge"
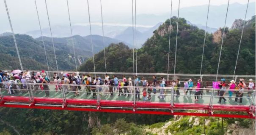
[{"label": "upper, thicker bright red beam along the bridge deck edge", "polygon": [[[22,102],[30,103],[29,97],[23,96],[4,96],[4,102]],[[35,103],[49,103],[49,104],[63,104],[62,98],[45,98],[45,97],[34,97]],[[171,109],[170,103],[163,102],[145,102],[145,101],[136,101],[136,104],[133,104],[133,101],[109,101],[101,100],[100,104],[97,103],[95,99],[76,99],[76,98],[67,98],[67,105],[91,105],[91,106],[108,106],[108,107],[133,107],[133,108],[152,108],[152,109]],[[194,109],[194,110],[209,110],[208,104],[199,104],[199,103],[174,103],[172,109]],[[244,111],[249,112],[249,106],[237,106],[237,105],[221,105],[214,104],[213,110],[220,111]],[[253,110],[255,112],[255,108]]]}]

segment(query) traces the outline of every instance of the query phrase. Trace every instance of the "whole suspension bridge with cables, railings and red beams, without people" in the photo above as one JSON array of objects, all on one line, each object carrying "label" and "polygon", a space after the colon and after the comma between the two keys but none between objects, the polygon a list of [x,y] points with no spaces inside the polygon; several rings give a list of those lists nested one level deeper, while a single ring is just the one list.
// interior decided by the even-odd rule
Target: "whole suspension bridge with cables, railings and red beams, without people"
[{"label": "whole suspension bridge with cables, railings and red beams, without people", "polygon": [[[40,24],[40,18],[39,18],[39,13],[37,9],[37,3],[35,1],[35,6],[36,6],[36,13],[39,21],[39,28],[41,30],[41,24]],[[11,32],[13,34],[14,38],[14,44],[16,47],[17,51],[17,56],[19,59],[20,67],[22,71],[25,71],[23,66],[22,66],[22,61],[19,56],[19,49],[18,45],[15,39],[15,34],[14,34],[14,29],[11,23],[11,16],[8,11],[8,6],[6,3],[6,0],[4,0],[5,7],[6,7],[6,13],[8,15],[8,21],[11,27]],[[180,0],[179,0],[180,3]],[[249,3],[249,0],[248,0]],[[246,14],[248,10],[248,3],[247,3],[247,8],[245,11],[245,18],[246,19]],[[67,4],[67,9],[69,13],[69,3],[68,0],[66,0]],[[91,18],[90,18],[90,8],[89,8],[89,3],[87,0],[88,4],[88,20],[89,20],[89,25],[90,25],[90,33],[91,33]],[[206,29],[207,29],[207,23],[208,23],[208,16],[209,16],[209,8],[210,8],[210,0],[208,3],[208,9],[207,9],[207,17],[206,17]],[[227,4],[227,9],[226,9],[226,19],[228,16],[228,6],[229,6],[229,0]],[[41,38],[42,42],[44,45],[44,53],[46,57],[46,63],[48,67],[48,71],[46,71],[47,76],[51,77],[53,76],[53,73],[57,73],[58,76],[60,76],[61,72],[67,72],[69,74],[74,73],[74,71],[59,71],[58,69],[58,61],[56,59],[56,54],[55,54],[55,46],[54,46],[54,41],[52,37],[52,29],[51,29],[51,23],[50,23],[50,17],[49,17],[49,12],[47,8],[47,1],[45,0],[45,7],[47,11],[47,17],[48,17],[48,23],[49,23],[49,28],[50,28],[50,33],[51,33],[51,38],[52,38],[52,48],[54,51],[54,56],[55,56],[55,62],[56,62],[56,67],[57,71],[50,71],[48,60],[47,60],[47,52],[45,50],[45,45],[44,45],[44,37],[42,34],[41,30]],[[135,32],[132,32],[133,36],[133,44],[134,46],[137,44],[137,17],[136,17],[136,0],[132,0],[132,30],[134,30],[135,27]],[[101,19],[102,19],[102,36],[104,37],[104,23],[103,23],[103,16],[102,16],[102,3],[100,0],[100,9],[101,9]],[[179,7],[178,7],[178,21],[177,21],[177,29],[176,29],[176,48],[178,45],[178,26],[179,26]],[[171,16],[172,16],[172,0],[171,0]],[[171,16],[170,16],[170,25],[171,25]],[[224,23],[224,28],[226,27],[226,19]],[[71,19],[70,19],[70,13],[69,13],[69,26],[70,26],[70,32],[71,36],[73,37],[73,32],[72,32],[72,24],[71,24]],[[135,24],[135,26],[134,26]],[[243,30],[245,26],[245,21],[243,23],[242,27],[242,34],[239,42],[239,48],[237,50],[237,60],[239,57],[239,49],[241,46],[241,40],[243,36]],[[236,60],[236,65],[234,68],[234,74],[233,75],[220,75],[218,74],[219,72],[219,65],[220,65],[220,58],[221,58],[221,51],[222,51],[222,46],[223,46],[223,40],[224,40],[224,32],[222,34],[222,40],[221,40],[221,48],[220,48],[220,56],[218,60],[218,66],[217,66],[217,73],[216,74],[201,74],[202,73],[202,65],[203,65],[203,57],[204,57],[204,46],[205,46],[205,40],[206,40],[206,31],[204,34],[204,45],[202,49],[202,59],[201,59],[201,69],[200,69],[200,74],[177,74],[176,71],[176,53],[177,49],[175,50],[175,59],[174,59],[174,72],[173,74],[169,73],[169,57],[170,57],[170,39],[171,39],[171,31],[170,31],[170,37],[169,37],[169,50],[168,50],[168,70],[167,73],[137,73],[137,51],[135,48],[133,48],[133,73],[113,73],[113,72],[107,72],[107,64],[106,64],[106,54],[105,54],[105,43],[104,43],[104,38],[103,40],[103,47],[104,47],[104,59],[105,59],[105,71],[104,72],[96,72],[95,71],[95,61],[94,61],[94,45],[93,41],[91,39],[91,48],[92,48],[92,58],[94,62],[94,71],[93,72],[80,72],[80,74],[94,74],[94,76],[99,75],[99,76],[104,76],[104,74],[109,74],[111,75],[117,75],[118,77],[121,77],[121,75],[126,75],[127,77],[133,78],[135,80],[135,75],[138,77],[146,77],[146,78],[151,78],[152,75],[156,75],[157,77],[164,77],[169,80],[169,78],[172,78],[173,80],[175,79],[193,79],[194,83],[195,80],[197,79],[202,79],[206,82],[207,86],[204,89],[201,89],[203,92],[203,95],[199,98],[197,102],[193,101],[194,97],[194,91],[193,93],[185,95],[183,88],[178,88],[180,91],[181,95],[176,95],[175,90],[173,87],[168,85],[170,82],[167,81],[167,87],[142,87],[142,86],[127,86],[124,87],[127,89],[131,89],[131,93],[124,93],[126,95],[120,95],[118,92],[114,93],[109,93],[104,91],[105,89],[110,89],[113,88],[115,89],[116,87],[114,86],[105,86],[105,85],[100,85],[100,86],[95,86],[95,85],[65,85],[61,84],[61,87],[72,87],[72,86],[80,86],[82,89],[79,91],[79,95],[74,96],[74,91],[72,90],[55,90],[55,85],[56,84],[44,84],[48,85],[50,90],[47,90],[49,92],[49,96],[46,96],[45,90],[35,90],[33,89],[32,86],[34,85],[41,85],[41,84],[32,84],[32,83],[27,83],[27,90],[22,90],[22,93],[16,94],[16,95],[9,95],[8,89],[2,88],[0,90],[0,107],[15,107],[15,108],[27,108],[27,109],[55,109],[55,110],[71,110],[71,111],[95,111],[95,112],[111,112],[111,113],[132,113],[132,114],[161,114],[161,115],[190,115],[190,116],[217,116],[217,117],[233,117],[233,118],[251,118],[255,119],[255,89],[253,88],[252,90],[244,90],[244,96],[240,98],[239,100],[241,103],[234,102],[236,95],[233,94],[231,97],[228,97],[225,95],[228,100],[226,102],[218,103],[220,96],[217,95],[217,91],[219,89],[212,88],[212,82],[217,82],[217,80],[220,80],[221,78],[226,78],[226,80],[232,80],[234,79],[237,81],[239,78],[243,78],[245,80],[248,80],[252,78],[255,80],[255,75],[236,75],[236,68],[237,68],[237,60]],[[92,37],[92,36],[91,36]],[[74,51],[74,62],[76,66],[76,71],[77,71],[77,61],[76,61],[76,55],[75,55],[75,50],[74,50],[74,40],[72,40],[72,45],[73,45],[73,51]],[[10,71],[10,70],[8,70]],[[35,72],[40,72],[40,71],[35,71]],[[150,82],[151,80],[148,79]],[[248,82],[246,82],[248,83]],[[85,91],[86,87],[95,87],[95,90],[90,91],[89,93]],[[157,89],[156,93],[151,93],[151,99],[150,100],[142,100],[140,98],[136,98],[136,89],[144,90],[144,89]],[[162,100],[158,98],[158,96],[161,95],[160,89],[165,90],[165,99]],[[228,89],[227,89],[228,91]],[[247,93],[252,93],[252,97],[248,98],[246,97]],[[113,94],[113,96],[110,96]],[[137,93],[141,97],[143,96],[142,91],[140,93]],[[128,97],[129,95],[129,97]],[[190,112],[186,110],[191,110]],[[235,113],[236,112],[236,113]]]}]

